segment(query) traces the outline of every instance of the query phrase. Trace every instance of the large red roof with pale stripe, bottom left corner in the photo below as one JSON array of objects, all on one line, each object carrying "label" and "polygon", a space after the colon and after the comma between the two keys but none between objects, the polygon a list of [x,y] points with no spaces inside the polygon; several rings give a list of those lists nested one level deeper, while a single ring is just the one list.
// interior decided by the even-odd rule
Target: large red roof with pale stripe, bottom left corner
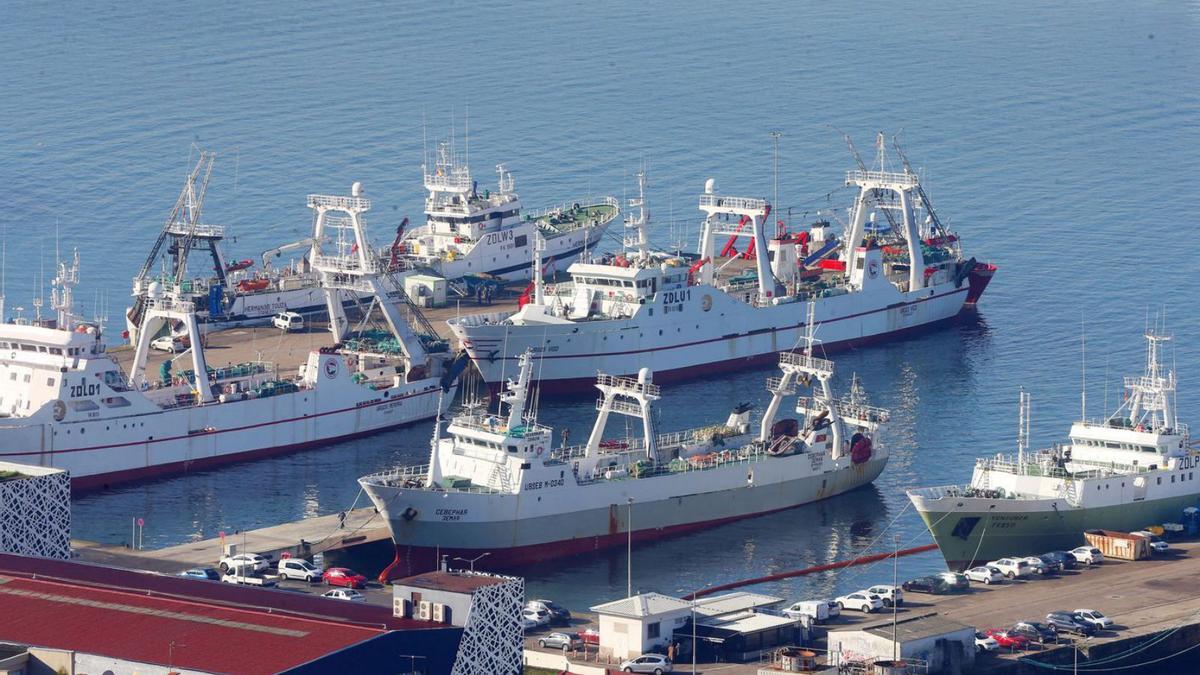
[{"label": "large red roof with pale stripe, bottom left corner", "polygon": [[0,575],[0,638],[5,640],[191,670],[277,673],[383,632]]}]

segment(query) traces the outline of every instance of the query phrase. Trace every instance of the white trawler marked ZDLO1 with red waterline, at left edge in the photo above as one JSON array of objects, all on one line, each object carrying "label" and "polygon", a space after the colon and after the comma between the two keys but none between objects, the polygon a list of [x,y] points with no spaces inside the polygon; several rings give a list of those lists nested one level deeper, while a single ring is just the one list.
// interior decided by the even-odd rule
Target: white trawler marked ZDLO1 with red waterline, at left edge
[{"label": "white trawler marked ZDLO1 with red waterline, at left edge", "polygon": [[[194,193],[197,175],[185,196]],[[72,488],[182,473],[350,438],[436,417],[454,398],[466,359],[452,362],[419,311],[384,298],[378,253],[366,238],[371,208],[352,196],[310,195],[316,232],[308,253],[336,344],[313,350],[293,375],[268,362],[208,365],[196,306],[180,283],[150,283],[126,374],[95,324],[71,306],[78,269],[56,283],[56,325],[0,323],[0,458],[70,471]],[[184,199],[186,202],[186,199]],[[199,229],[198,210],[181,227]],[[376,298],[390,335],[350,333],[346,295]],[[371,316],[370,311],[365,316]],[[418,324],[414,329],[413,324]],[[191,370],[146,372],[160,329],[187,338]]]}]

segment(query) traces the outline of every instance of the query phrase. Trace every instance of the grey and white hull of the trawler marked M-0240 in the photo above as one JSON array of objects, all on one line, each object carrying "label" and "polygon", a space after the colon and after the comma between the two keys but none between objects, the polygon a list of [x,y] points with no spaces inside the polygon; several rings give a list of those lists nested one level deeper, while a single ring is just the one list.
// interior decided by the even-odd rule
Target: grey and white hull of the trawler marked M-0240
[{"label": "grey and white hull of the trawler marked M-0240", "polygon": [[[815,473],[769,468],[785,459],[810,466],[805,455],[775,458],[712,476],[703,476],[706,471],[581,485],[553,501],[547,495],[547,502],[530,495],[484,494],[460,502],[437,491],[364,486],[388,515],[396,562],[385,574],[392,578],[436,568],[438,551],[463,556],[486,551],[488,567],[512,569],[624,545],[630,538],[644,542],[713,527],[853,490],[875,480],[887,465],[884,455]],[[404,516],[413,512],[414,518]]]}]

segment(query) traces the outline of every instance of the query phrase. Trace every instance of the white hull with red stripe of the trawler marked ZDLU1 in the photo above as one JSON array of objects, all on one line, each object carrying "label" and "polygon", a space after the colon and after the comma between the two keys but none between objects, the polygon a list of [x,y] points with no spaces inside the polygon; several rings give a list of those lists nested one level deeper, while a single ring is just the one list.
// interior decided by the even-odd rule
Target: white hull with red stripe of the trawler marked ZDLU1
[{"label": "white hull with red stripe of the trawler marked ZDLU1", "polygon": [[[946,325],[967,306],[970,286],[944,285],[917,295],[892,291],[870,298],[846,294],[816,300],[822,350],[828,353]],[[449,324],[491,387],[515,372],[515,359],[528,348],[540,359],[542,392],[577,393],[590,389],[596,371],[635,375],[650,368],[655,381],[672,382],[772,364],[778,353],[800,344],[808,306],[754,307],[694,287],[682,310],[649,312],[647,306],[625,319],[512,325],[503,323],[506,317],[502,315],[479,315]]]}]

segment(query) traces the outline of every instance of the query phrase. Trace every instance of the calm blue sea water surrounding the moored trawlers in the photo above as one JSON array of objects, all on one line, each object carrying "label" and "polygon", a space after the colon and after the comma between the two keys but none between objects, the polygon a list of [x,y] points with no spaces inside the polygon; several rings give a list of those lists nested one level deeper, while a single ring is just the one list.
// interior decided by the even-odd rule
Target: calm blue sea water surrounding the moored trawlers
[{"label": "calm blue sea water surrounding the moored trawlers", "polygon": [[[1000,265],[978,316],[838,358],[894,411],[893,460],[872,488],[638,545],[638,589],[878,552],[893,533],[928,542],[904,489],[962,482],[974,456],[1010,450],[1021,387],[1034,440],[1061,438],[1079,414],[1084,330],[1099,414],[1117,376],[1140,370],[1147,315],[1165,309],[1180,410],[1200,413],[1195,2],[16,2],[4,14],[10,309],[28,310],[53,275],[58,235],[79,247],[79,298],[89,313],[107,306],[114,329],[192,144],[220,153],[206,216],[235,233],[241,258],[305,235],[305,195],[354,180],[380,238],[419,216],[426,132],[457,127],[466,145],[469,125],[481,184],[503,162],[528,205],[623,196],[644,165],[664,245],[668,222],[694,240],[706,178],[772,197],[772,130],[784,135],[779,213],[796,223],[848,204],[836,130],[865,154],[877,131],[902,132],[942,217],[970,255]],[[764,402],[768,374],[671,387],[660,424]],[[544,401],[541,419],[577,437],[590,402]],[[356,477],[421,460],[428,434],[86,496],[74,534],[120,543],[142,516],[158,546],[342,510]],[[900,573],[940,567],[925,554]],[[876,567],[762,590],[828,595],[889,577]],[[532,595],[584,607],[624,592],[624,551],[527,578]]]}]

